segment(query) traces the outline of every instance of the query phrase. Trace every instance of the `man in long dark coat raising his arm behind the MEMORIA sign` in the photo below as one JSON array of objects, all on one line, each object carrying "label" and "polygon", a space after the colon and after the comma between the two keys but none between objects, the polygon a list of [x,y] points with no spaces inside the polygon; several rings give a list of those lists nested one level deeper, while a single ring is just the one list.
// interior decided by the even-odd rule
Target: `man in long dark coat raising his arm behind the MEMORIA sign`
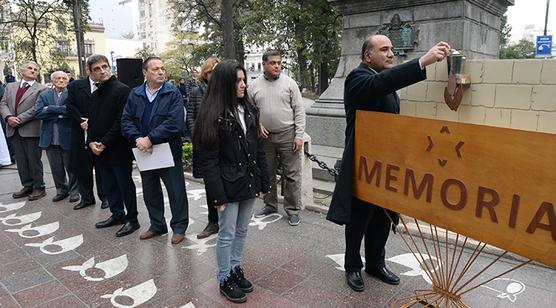
[{"label": "man in long dark coat raising his arm behind the MEMORIA sign", "polygon": [[352,197],[355,113],[357,110],[400,113],[400,99],[396,91],[426,79],[425,67],[444,59],[449,49],[447,43],[440,42],[421,58],[394,66],[394,47],[390,39],[384,35],[373,35],[363,44],[361,64],[346,77],[344,105],[347,126],[343,168],[334,189],[327,219],[346,225],[344,268],[347,283],[354,291],[361,292],[365,289],[361,277],[363,263],[359,253],[363,236],[365,272],[389,284],[400,283],[400,279],[386,268],[384,261],[384,246],[391,221],[397,223],[398,214],[385,212],[378,205]]}]

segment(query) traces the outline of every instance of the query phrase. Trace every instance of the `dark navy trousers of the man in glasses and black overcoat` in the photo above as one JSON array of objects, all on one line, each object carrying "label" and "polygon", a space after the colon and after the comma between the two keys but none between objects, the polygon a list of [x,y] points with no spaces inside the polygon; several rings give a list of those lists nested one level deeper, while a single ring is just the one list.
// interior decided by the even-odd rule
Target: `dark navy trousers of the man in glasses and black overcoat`
[{"label": "dark navy trousers of the man in glasses and black overcoat", "polygon": [[111,165],[97,161],[96,164],[96,172],[102,178],[102,190],[110,204],[110,212],[114,218],[125,222],[137,222],[137,195],[131,177],[132,170],[131,162]]}]

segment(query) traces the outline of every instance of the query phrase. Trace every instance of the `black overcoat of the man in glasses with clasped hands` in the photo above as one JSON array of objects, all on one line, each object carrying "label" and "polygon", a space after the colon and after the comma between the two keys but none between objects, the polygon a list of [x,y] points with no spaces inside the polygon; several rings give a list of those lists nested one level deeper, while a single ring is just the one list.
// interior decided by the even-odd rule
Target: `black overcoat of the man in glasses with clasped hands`
[{"label": "black overcoat of the man in glasses with clasped hands", "polygon": [[112,76],[91,95],[87,144],[96,141],[106,146],[98,160],[111,165],[130,163],[133,160],[131,144],[122,136],[122,111],[127,101],[129,87]]}]

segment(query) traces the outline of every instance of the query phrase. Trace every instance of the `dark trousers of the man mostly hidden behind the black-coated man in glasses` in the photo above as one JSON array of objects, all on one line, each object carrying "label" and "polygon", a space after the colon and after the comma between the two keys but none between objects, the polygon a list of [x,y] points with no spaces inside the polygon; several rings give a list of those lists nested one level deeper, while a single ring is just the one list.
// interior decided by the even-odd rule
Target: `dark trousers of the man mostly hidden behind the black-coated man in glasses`
[{"label": "dark trousers of the man mostly hidden behind the black-coated man in glasses", "polygon": [[[72,162],[74,172],[77,176],[77,188],[81,194],[81,200],[85,203],[95,203],[95,195],[93,194],[93,167],[95,159],[90,150],[83,147],[72,147],[72,151],[76,151],[79,155],[74,153]],[[95,172],[95,181],[97,183],[97,195],[101,201],[106,199],[106,194],[103,191],[102,179],[98,170]]]}]

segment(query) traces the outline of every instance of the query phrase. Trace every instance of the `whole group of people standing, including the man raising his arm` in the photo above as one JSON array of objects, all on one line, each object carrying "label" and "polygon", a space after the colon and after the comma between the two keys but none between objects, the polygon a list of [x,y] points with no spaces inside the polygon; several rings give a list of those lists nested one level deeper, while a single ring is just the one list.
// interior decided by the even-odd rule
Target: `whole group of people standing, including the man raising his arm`
[{"label": "whole group of people standing, including the man raising his arm", "polygon": [[[364,290],[363,237],[365,272],[399,284],[384,261],[384,247],[397,213],[383,211],[352,194],[356,111],[399,113],[395,91],[426,79],[426,66],[443,60],[449,50],[447,43],[440,42],[422,57],[394,66],[391,41],[384,35],[372,35],[363,43],[361,64],[346,78],[344,168],[327,219],[345,225],[344,268],[346,282],[354,291]],[[253,290],[241,263],[248,226],[253,214],[260,218],[278,211],[278,169],[290,225],[300,224],[302,208],[300,155],[305,111],[301,93],[293,79],[281,74],[279,52],[267,51],[262,60],[264,74],[249,86],[245,68],[237,61],[209,58],[198,80],[180,80],[174,87],[167,80],[164,61],[152,56],[143,62],[144,83],[133,89],[113,76],[103,55],[87,59],[84,79],[68,84],[65,72],[52,73],[51,89],[36,82],[37,63],[23,63],[21,80],[6,78],[0,101],[5,136],[23,186],[12,197],[33,201],[46,196],[41,163],[44,149],[56,186],[52,201],[69,197],[70,202],[79,201],[75,210],[92,206],[96,204],[96,183],[101,207],[109,208],[111,215],[95,226],[121,225],[116,236],[129,235],[140,228],[132,149],[156,155],[155,148],[167,143],[172,166],[140,170],[150,222],[140,239],[168,233],[162,181],[172,212],[171,243],[178,244],[184,240],[189,222],[181,153],[185,126],[193,143],[193,176],[203,179],[209,205],[208,224],[197,237],[218,233],[220,292],[232,302],[245,302],[246,293]],[[0,137],[0,163],[10,164],[8,145],[4,136]],[[264,199],[264,207],[254,213],[256,198]]]}]

